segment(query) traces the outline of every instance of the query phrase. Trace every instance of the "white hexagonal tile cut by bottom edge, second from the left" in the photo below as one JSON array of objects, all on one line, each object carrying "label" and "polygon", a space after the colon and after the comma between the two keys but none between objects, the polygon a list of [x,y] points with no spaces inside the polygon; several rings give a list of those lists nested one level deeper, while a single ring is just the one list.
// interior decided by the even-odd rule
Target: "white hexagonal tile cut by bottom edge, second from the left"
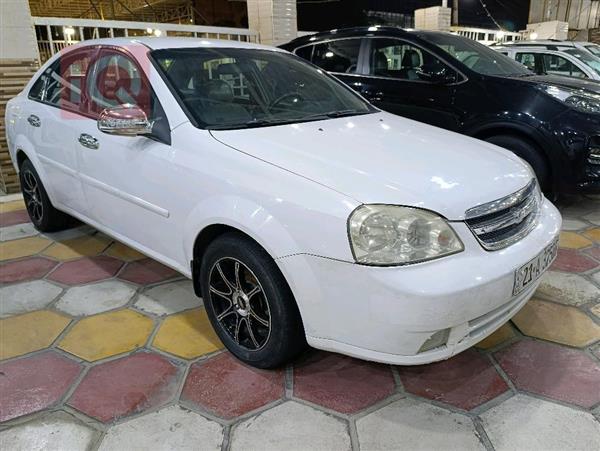
[{"label": "white hexagonal tile cut by bottom edge, second from the left", "polygon": [[[100,451],[132,449],[220,451],[223,428],[197,413],[171,406],[111,427]],[[135,445],[134,445],[135,444]]]}]

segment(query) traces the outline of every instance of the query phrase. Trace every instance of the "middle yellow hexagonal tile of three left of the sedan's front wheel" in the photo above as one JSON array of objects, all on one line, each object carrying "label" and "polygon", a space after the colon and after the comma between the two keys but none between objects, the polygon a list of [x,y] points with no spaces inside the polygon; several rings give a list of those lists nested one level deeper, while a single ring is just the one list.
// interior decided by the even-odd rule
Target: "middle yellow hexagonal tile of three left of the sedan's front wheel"
[{"label": "middle yellow hexagonal tile of three left of the sedan's front wheel", "polygon": [[150,318],[133,310],[102,313],[75,324],[58,347],[93,362],[144,346],[153,328]]}]

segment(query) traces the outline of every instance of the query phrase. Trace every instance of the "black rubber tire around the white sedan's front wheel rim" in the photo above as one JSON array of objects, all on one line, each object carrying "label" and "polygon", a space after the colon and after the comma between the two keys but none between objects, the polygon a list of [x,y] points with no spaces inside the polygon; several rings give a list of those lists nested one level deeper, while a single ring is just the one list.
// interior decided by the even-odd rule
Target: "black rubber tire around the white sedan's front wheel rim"
[{"label": "black rubber tire around the white sedan's front wheel rim", "polygon": [[[216,319],[209,289],[213,265],[231,257],[246,265],[256,276],[266,295],[271,314],[271,333],[267,343],[257,351],[238,345]],[[223,344],[243,362],[259,367],[274,368],[291,360],[305,346],[300,314],[289,286],[273,259],[258,245],[238,234],[227,234],[215,240],[202,258],[200,282],[204,306],[215,332]]]}]

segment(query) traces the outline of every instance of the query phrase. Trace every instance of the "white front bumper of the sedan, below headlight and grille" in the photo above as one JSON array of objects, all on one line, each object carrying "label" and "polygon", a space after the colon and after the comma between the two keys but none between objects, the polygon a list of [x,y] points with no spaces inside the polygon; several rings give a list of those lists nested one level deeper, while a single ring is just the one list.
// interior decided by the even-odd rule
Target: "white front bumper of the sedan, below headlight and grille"
[{"label": "white front bumper of the sedan, below headlight and grille", "polygon": [[[378,268],[306,254],[277,262],[310,345],[366,360],[423,364],[467,349],[519,311],[537,284],[513,297],[514,272],[556,239],[560,226],[559,212],[546,200],[529,235],[498,251],[484,250],[457,222],[465,251],[430,262]],[[445,345],[419,352],[444,329],[450,329]]]}]

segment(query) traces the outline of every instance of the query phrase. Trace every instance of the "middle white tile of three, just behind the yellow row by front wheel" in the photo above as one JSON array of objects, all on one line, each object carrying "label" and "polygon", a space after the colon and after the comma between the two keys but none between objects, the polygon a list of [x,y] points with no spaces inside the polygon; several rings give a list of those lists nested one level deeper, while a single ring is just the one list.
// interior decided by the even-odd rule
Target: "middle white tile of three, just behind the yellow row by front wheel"
[{"label": "middle white tile of three, just behind the yellow row by front wheel", "polygon": [[93,315],[123,307],[135,294],[135,288],[118,280],[69,288],[55,307],[73,316]]}]

